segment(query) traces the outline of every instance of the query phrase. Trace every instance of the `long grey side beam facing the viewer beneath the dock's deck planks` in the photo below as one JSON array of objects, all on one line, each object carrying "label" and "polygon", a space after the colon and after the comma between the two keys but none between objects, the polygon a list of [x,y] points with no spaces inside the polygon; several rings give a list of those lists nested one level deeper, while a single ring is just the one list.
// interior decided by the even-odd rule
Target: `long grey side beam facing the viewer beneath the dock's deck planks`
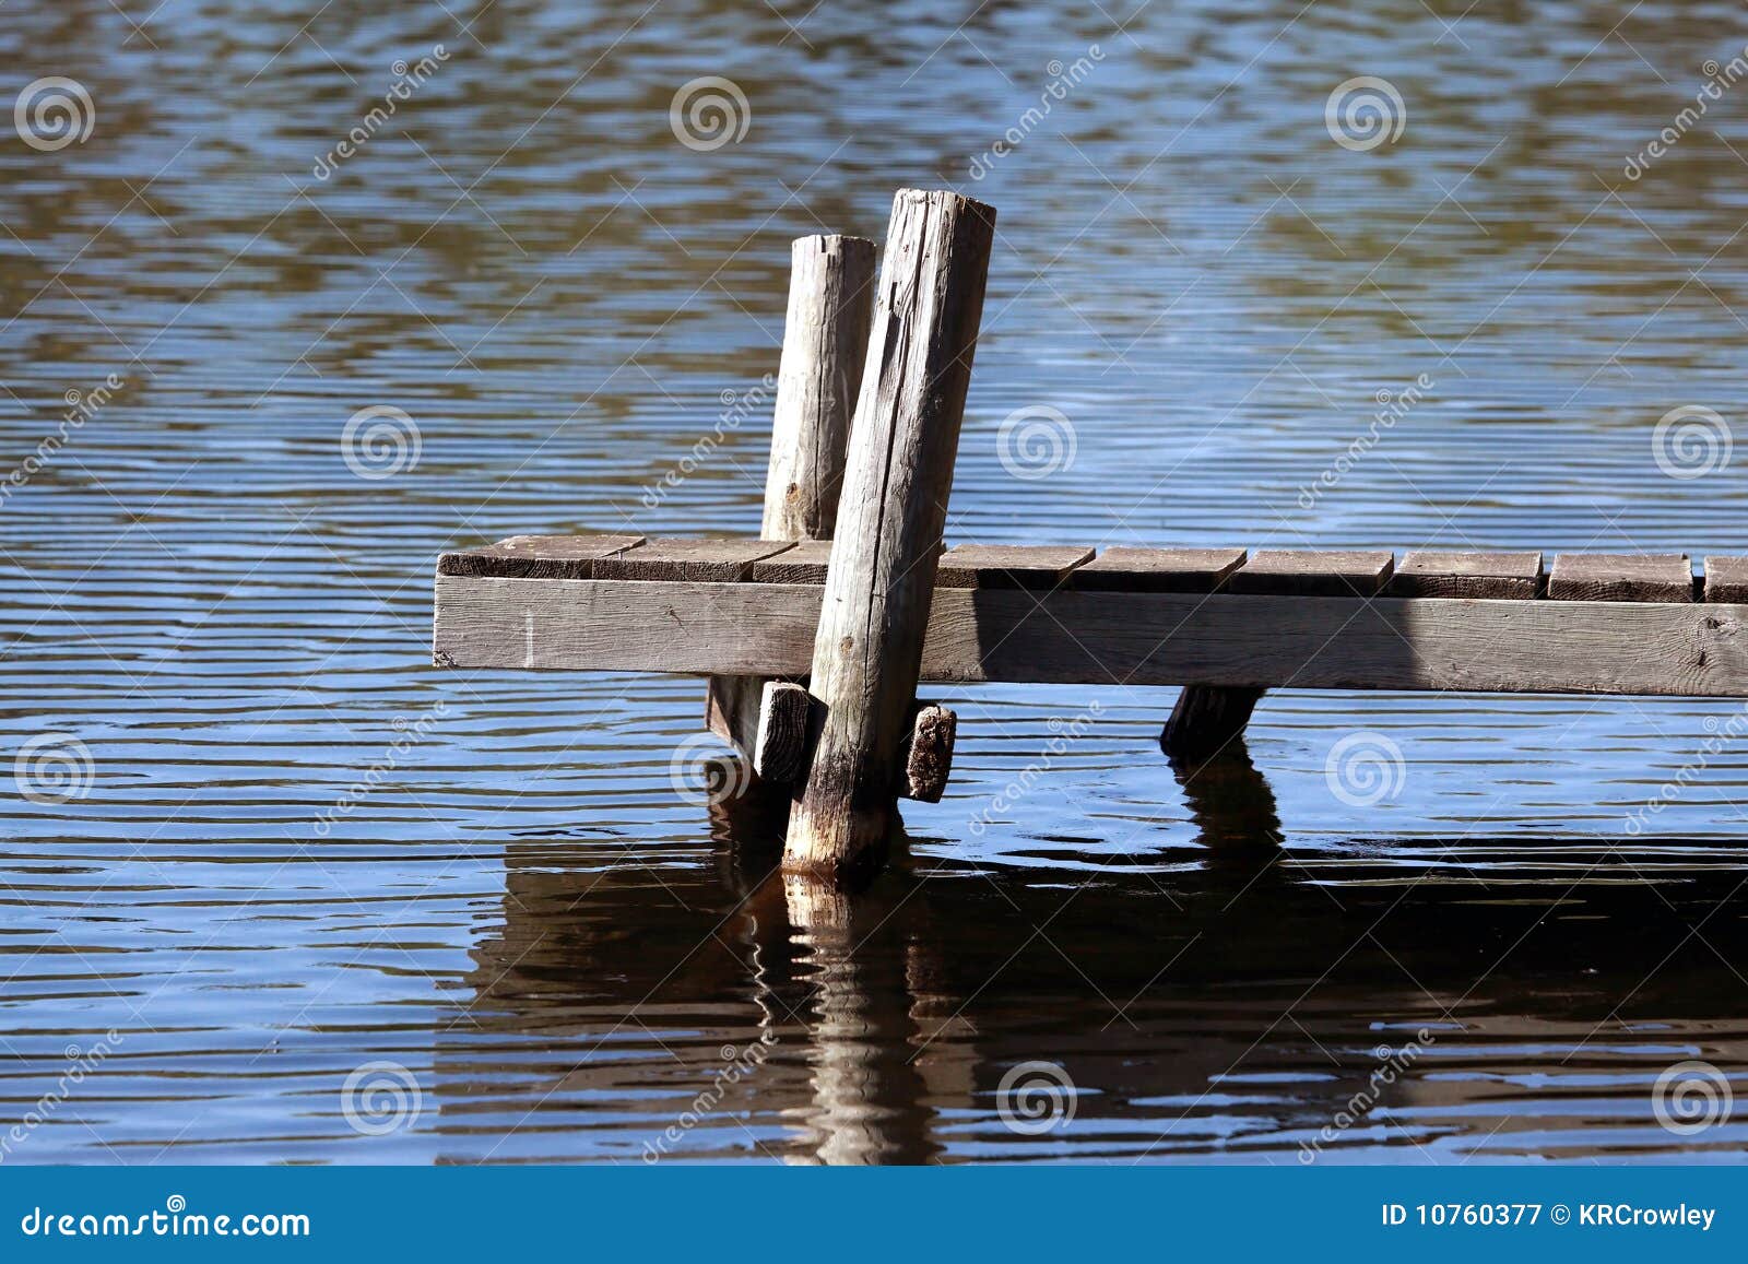
[{"label": "long grey side beam facing the viewer beneath the dock's deck planks", "polygon": [[[442,575],[435,657],[465,668],[801,677],[820,596],[811,584]],[[1748,605],[939,589],[921,673],[1748,698]]]}]

